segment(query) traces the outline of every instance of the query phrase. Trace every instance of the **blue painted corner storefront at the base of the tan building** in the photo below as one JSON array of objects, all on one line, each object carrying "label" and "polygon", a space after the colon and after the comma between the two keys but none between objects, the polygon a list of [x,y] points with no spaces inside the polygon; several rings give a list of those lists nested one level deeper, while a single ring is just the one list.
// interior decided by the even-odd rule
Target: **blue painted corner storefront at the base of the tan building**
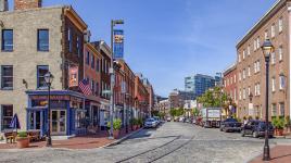
[{"label": "blue painted corner storefront at the base of the tan building", "polygon": [[[48,106],[46,103],[48,92],[34,90],[27,91],[26,93],[28,96],[28,106],[26,109],[26,128],[27,130],[39,129],[43,136],[47,134],[49,125]],[[59,131],[52,133],[52,135],[72,136],[86,133],[86,127],[80,125],[85,116],[76,116],[76,114],[85,115],[86,110],[83,109],[84,100],[85,97],[75,91],[51,91],[51,131],[53,131],[53,124],[56,124],[54,126],[59,126],[56,127],[56,130]]]}]

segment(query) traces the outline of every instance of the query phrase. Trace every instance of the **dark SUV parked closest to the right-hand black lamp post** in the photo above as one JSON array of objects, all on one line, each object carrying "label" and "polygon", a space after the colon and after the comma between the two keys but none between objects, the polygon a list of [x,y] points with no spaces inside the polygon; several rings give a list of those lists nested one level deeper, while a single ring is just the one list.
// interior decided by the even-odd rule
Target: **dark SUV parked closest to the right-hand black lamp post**
[{"label": "dark SUV parked closest to the right-hand black lamp post", "polygon": [[[274,137],[274,126],[271,123],[268,124],[269,137]],[[254,138],[264,137],[266,129],[266,122],[263,121],[249,121],[241,130],[241,136],[251,135]]]}]

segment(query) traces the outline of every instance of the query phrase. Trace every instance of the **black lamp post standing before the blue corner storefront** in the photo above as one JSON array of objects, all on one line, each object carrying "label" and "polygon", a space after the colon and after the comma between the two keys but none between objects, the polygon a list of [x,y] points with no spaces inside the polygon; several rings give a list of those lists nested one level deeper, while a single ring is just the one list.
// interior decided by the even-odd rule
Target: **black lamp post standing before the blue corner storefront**
[{"label": "black lamp post standing before the blue corner storefront", "polygon": [[49,88],[49,95],[48,95],[48,138],[47,138],[47,147],[51,147],[51,123],[50,123],[50,113],[51,113],[51,83],[53,80],[53,75],[51,74],[51,72],[48,72],[45,75],[45,80],[47,83],[47,86]]}]

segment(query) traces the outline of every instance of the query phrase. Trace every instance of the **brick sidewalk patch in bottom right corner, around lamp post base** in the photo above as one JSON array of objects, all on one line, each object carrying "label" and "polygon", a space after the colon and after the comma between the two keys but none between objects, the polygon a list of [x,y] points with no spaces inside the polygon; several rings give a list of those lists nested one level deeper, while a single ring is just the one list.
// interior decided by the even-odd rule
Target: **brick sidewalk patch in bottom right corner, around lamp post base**
[{"label": "brick sidewalk patch in bottom right corner, around lamp post base", "polygon": [[[262,149],[263,150],[263,149]],[[276,146],[270,149],[270,161],[262,161],[263,154],[250,163],[291,163],[291,146]]]}]

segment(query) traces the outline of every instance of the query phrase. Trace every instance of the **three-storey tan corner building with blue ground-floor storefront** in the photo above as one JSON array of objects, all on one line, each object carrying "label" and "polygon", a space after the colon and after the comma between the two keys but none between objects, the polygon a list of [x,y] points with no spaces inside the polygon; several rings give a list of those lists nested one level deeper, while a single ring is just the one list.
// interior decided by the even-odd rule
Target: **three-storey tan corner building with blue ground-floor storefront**
[{"label": "three-storey tan corner building with blue ground-floor storefront", "polygon": [[41,0],[14,0],[14,11],[0,12],[1,130],[9,128],[16,113],[21,129],[46,134],[48,92],[43,75],[50,71],[54,76],[51,134],[81,133],[86,97],[78,92],[78,79],[84,77],[86,23],[72,7],[41,8]]}]

